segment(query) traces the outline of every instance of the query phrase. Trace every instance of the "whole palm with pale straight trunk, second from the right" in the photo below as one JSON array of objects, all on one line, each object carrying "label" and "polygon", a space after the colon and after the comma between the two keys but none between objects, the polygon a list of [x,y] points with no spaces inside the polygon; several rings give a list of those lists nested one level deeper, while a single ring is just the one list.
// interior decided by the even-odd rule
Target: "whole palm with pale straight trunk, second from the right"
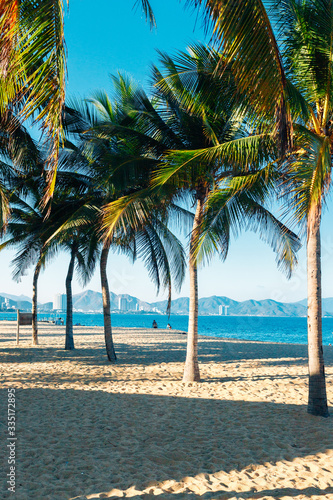
[{"label": "whole palm with pale straight trunk, second from the right", "polygon": [[[216,80],[216,68],[222,64],[220,55],[200,46],[192,47],[190,55],[182,54],[176,63],[165,55],[162,62],[164,74],[155,69],[155,87],[165,101],[164,109],[169,105],[171,110],[173,106],[168,122],[177,123],[180,109],[182,113],[191,113],[192,120],[195,118],[192,133],[197,127],[192,135],[195,141],[190,136],[192,142],[166,152],[161,166],[153,174],[155,186],[173,184],[190,190],[196,207],[189,243],[189,334],[183,377],[184,381],[192,381],[200,380],[198,258],[210,256],[216,250],[226,258],[231,229],[246,226],[256,231],[259,228],[260,235],[277,252],[278,263],[290,271],[296,263],[299,243],[295,234],[264,207],[274,192],[275,175],[270,165],[264,170],[262,167],[269,161],[274,146],[267,134],[252,130],[249,135],[242,111],[233,101],[235,85],[230,66],[225,67],[224,78]],[[177,123],[181,132],[183,124],[184,119],[181,124]],[[233,184],[241,183],[243,176],[249,179],[247,193],[244,189],[232,189]]]}]

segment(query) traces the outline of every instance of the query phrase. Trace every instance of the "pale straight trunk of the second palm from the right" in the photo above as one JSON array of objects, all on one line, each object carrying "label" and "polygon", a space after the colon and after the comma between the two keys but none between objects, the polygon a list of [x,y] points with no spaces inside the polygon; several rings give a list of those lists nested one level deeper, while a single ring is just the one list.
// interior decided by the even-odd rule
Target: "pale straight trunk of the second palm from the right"
[{"label": "pale straight trunk of the second palm from the right", "polygon": [[199,199],[197,202],[190,240],[190,307],[183,382],[200,382],[198,363],[198,269],[196,259],[194,258],[194,250],[198,241],[199,228],[202,222],[202,210],[203,201]]}]

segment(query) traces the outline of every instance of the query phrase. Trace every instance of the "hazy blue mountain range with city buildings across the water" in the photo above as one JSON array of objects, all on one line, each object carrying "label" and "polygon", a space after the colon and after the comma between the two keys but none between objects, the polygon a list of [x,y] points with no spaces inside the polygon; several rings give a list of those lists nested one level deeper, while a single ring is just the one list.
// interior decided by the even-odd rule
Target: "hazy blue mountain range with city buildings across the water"
[{"label": "hazy blue mountain range with city buildings across the water", "polygon": [[[31,309],[31,299],[27,296],[0,293],[0,304],[7,299],[7,307],[18,309]],[[127,294],[110,293],[111,309],[117,312],[154,312],[165,313],[167,301],[145,302]],[[307,315],[307,300],[299,302],[277,302],[271,299],[236,301],[228,297],[203,297],[199,299],[200,315],[223,316],[297,316]],[[333,316],[333,297],[323,299],[323,316]],[[51,311],[53,303],[47,302],[38,305],[41,311]],[[73,308],[77,312],[101,312],[102,294],[92,290],[73,295]],[[182,297],[172,301],[172,314],[187,315],[189,311],[189,298]]]}]

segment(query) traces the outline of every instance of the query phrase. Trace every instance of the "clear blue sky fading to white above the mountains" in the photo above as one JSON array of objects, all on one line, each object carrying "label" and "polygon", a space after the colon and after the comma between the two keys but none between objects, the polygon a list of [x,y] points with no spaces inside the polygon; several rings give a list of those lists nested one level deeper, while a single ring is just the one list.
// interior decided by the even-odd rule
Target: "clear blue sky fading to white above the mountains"
[{"label": "clear blue sky fading to white above the mountains", "polygon": [[[111,91],[109,74],[118,70],[133,75],[142,85],[149,79],[152,62],[158,62],[155,49],[170,54],[185,50],[193,41],[205,41],[200,20],[184,1],[152,0],[157,30],[150,31],[140,10],[133,10],[134,0],[70,0],[66,15],[66,42],[68,48],[67,95],[89,96],[94,90]],[[206,40],[207,41],[207,40]],[[331,224],[332,203],[325,211],[322,227],[323,296],[333,296],[333,238]],[[31,297],[32,272],[17,284],[11,279],[10,261],[13,253],[4,251],[2,259],[1,291]],[[286,302],[306,297],[305,249],[299,253],[299,266],[291,280],[277,270],[272,250],[257,235],[246,233],[232,240],[229,256],[223,263],[216,257],[199,273],[199,295],[226,295],[235,300],[271,298]],[[56,293],[65,292],[65,277],[69,256],[60,254],[48,265],[39,279],[38,300],[53,300]],[[154,301],[154,286],[149,282],[144,266],[134,265],[125,257],[110,254],[108,275],[110,289],[115,293],[129,293]],[[100,290],[99,272],[86,287]],[[186,279],[181,293],[188,296]],[[82,291],[73,281],[73,291]]]}]

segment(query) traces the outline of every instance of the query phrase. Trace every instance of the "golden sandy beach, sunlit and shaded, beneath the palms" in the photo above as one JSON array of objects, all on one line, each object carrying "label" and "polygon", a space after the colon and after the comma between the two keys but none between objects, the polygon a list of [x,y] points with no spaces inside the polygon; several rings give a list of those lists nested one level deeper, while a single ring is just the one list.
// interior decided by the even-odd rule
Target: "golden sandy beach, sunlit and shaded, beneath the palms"
[{"label": "golden sandy beach, sunlit and shaded, beneath the palms", "polygon": [[[0,498],[86,500],[333,499],[333,410],[306,412],[306,346],[200,338],[201,383],[181,382],[186,336],[116,328],[30,327],[15,346],[0,324],[2,452],[7,387],[16,389],[16,493]],[[325,348],[329,404],[333,347]]]}]

